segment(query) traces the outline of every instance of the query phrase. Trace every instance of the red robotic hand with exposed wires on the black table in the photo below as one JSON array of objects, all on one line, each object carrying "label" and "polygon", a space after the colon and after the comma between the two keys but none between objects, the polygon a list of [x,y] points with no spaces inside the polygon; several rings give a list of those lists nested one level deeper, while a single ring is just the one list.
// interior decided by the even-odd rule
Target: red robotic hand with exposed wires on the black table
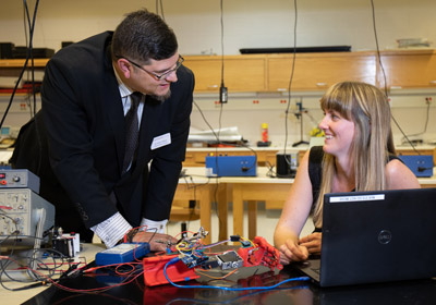
[{"label": "red robotic hand with exposed wires on the black table", "polygon": [[[234,272],[235,269],[253,266],[265,266],[275,271],[280,270],[280,253],[269,245],[265,239],[256,236],[254,242],[243,239],[240,235],[231,235],[229,240],[210,245],[204,245],[203,239],[207,235],[203,227],[197,233],[184,233],[183,237],[174,246],[179,255],[164,255],[145,257],[143,259],[144,282],[146,285],[159,285],[168,282],[189,281],[197,279],[203,282],[207,278],[223,279],[230,274],[237,277],[249,277],[249,272]],[[235,251],[228,251],[223,254],[211,255],[205,252],[213,246],[223,242],[240,242],[241,247]],[[233,270],[232,270],[233,269]],[[263,269],[263,270],[262,270]],[[258,272],[267,272],[268,268],[252,269]]]}]

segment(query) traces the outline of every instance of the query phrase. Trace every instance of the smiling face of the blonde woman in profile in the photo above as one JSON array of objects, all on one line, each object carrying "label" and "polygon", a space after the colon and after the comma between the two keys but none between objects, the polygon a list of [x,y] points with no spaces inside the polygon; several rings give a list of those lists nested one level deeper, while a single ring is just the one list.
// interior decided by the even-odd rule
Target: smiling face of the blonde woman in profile
[{"label": "smiling face of the blonde woman in profile", "polygon": [[324,151],[336,157],[350,154],[351,144],[354,138],[354,122],[347,120],[339,112],[325,110],[324,119],[319,129],[324,131]]}]

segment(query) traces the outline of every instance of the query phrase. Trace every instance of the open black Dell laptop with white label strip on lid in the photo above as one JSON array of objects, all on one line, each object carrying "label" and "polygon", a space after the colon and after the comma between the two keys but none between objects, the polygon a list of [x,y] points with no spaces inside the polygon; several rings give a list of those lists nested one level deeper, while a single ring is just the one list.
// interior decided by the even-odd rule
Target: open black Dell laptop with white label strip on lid
[{"label": "open black Dell laptop with white label strip on lid", "polygon": [[436,277],[436,188],[324,196],[320,259],[296,267],[320,286]]}]

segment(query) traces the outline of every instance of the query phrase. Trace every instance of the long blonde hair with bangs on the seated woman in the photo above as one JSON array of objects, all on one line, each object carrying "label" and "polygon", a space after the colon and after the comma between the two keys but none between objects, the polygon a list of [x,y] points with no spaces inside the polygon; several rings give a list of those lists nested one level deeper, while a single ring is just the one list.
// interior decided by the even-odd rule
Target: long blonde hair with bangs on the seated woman
[{"label": "long blonde hair with bangs on the seated woman", "polygon": [[[351,160],[355,191],[379,191],[386,187],[385,166],[395,154],[390,129],[390,107],[377,87],[360,82],[342,82],[331,86],[320,99],[323,110],[337,111],[354,122]],[[324,154],[322,183],[314,208],[315,227],[323,225],[324,194],[331,192],[335,158]],[[315,198],[314,198],[315,199]]]}]

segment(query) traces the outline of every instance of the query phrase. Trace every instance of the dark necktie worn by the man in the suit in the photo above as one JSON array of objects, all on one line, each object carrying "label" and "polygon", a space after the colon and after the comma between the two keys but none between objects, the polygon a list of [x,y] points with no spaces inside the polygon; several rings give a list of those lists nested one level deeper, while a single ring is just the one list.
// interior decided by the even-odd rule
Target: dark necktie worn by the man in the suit
[{"label": "dark necktie worn by the man in the suit", "polygon": [[130,95],[131,106],[125,114],[125,151],[122,173],[125,173],[130,163],[133,166],[133,158],[137,147],[137,138],[140,135],[137,121],[137,106],[143,97],[142,93],[133,93]]}]

